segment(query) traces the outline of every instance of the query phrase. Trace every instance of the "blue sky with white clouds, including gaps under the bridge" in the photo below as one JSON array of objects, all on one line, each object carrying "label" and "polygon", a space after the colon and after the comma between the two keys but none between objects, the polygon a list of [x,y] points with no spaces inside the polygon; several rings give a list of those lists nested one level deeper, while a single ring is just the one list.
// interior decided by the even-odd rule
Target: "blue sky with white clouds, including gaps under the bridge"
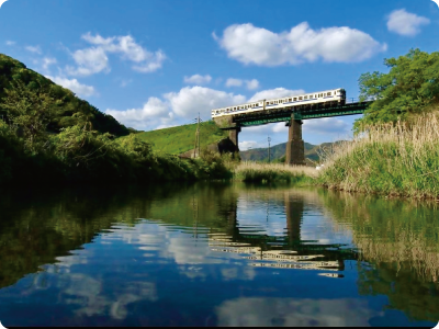
[{"label": "blue sky with white clouds, including gaps under the bridge", "polygon": [[[417,1],[7,0],[0,53],[137,129],[185,124],[249,99],[345,88],[410,48],[437,52],[439,7]],[[346,138],[359,116],[305,121],[305,141]],[[286,141],[244,128],[240,148]]]}]

